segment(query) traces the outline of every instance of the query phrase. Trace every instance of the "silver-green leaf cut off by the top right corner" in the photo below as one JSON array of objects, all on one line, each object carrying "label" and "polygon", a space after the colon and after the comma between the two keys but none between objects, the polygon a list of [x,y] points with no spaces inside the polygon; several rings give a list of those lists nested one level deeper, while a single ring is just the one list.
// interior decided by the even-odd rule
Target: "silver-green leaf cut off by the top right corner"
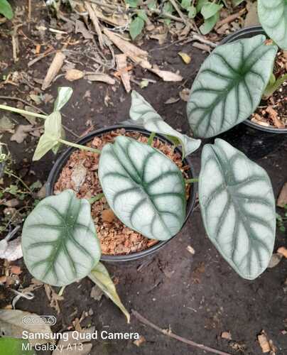
[{"label": "silver-green leaf cut off by the top right corner", "polygon": [[258,0],[259,20],[264,31],[282,49],[287,49],[287,1]]}]

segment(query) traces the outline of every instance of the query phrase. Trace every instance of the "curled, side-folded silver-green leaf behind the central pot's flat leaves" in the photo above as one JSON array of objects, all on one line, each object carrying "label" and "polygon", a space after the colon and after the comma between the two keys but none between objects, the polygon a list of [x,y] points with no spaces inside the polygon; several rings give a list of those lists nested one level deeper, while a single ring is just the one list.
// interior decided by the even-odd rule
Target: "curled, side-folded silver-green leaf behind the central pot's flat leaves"
[{"label": "curled, side-folded silver-green leaf behind the central pot's flat leaves", "polygon": [[136,124],[144,126],[144,129],[150,132],[160,133],[168,138],[176,138],[178,144],[183,148],[183,158],[190,153],[193,153],[200,147],[200,139],[194,139],[175,131],[167,124],[155,109],[149,104],[144,97],[133,90],[131,92],[131,109],[129,116]]}]

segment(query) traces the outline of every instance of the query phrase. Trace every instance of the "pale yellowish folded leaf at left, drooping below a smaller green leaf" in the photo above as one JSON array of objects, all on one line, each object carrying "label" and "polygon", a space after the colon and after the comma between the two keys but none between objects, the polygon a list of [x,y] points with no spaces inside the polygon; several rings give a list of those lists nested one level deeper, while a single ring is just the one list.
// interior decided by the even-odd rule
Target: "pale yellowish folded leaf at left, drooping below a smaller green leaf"
[{"label": "pale yellowish folded leaf at left, drooping below a smaller green leaf", "polygon": [[62,120],[59,111],[53,112],[45,119],[45,131],[38,141],[36,151],[33,155],[33,160],[39,160],[50,149],[59,145],[59,139],[62,136]]}]

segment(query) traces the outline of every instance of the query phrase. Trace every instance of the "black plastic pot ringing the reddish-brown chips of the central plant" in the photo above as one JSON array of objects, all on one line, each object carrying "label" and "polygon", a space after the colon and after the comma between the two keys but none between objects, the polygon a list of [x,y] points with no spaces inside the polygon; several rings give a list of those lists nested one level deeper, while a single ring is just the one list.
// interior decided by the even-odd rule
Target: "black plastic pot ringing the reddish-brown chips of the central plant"
[{"label": "black plastic pot ringing the reddish-brown chips of the central plant", "polygon": [[[118,126],[109,126],[108,128],[104,129],[98,129],[97,131],[94,131],[87,136],[83,137],[80,139],[80,141],[77,141],[77,143],[85,145],[86,143],[92,141],[92,139],[95,136],[101,136],[104,133],[114,131],[116,129],[125,129],[128,132],[131,131],[136,131],[142,133],[144,136],[150,136],[150,132],[146,131],[145,129],[141,129],[140,127],[137,126],[124,126],[124,125],[118,125]],[[172,144],[167,138],[164,136],[161,136],[160,134],[156,134],[156,137],[161,139],[163,142],[168,142]],[[70,158],[70,155],[73,151],[75,151],[77,148],[68,148],[60,157],[57,159],[55,162],[55,165],[53,166],[53,169],[50,171],[50,174],[48,176],[48,181],[47,181],[47,195],[53,195],[54,191],[54,185],[55,182],[57,182],[59,175],[61,171],[63,170],[65,164],[67,163],[67,160]],[[180,148],[175,148],[175,151],[178,151],[181,154]],[[193,168],[190,163],[190,160],[188,158],[185,158],[183,160],[185,165],[188,165],[190,167],[189,170],[187,170],[188,177],[195,178],[194,173],[193,173]],[[185,217],[185,222],[187,222],[188,217],[190,217],[191,212],[193,211],[193,207],[195,204],[195,196],[196,196],[196,190],[195,190],[195,185],[193,185],[193,188],[191,189],[190,193],[190,198],[188,200],[187,204],[187,210],[186,210],[186,217]],[[184,225],[183,224],[183,225]],[[174,238],[175,236],[173,236]],[[173,239],[171,238],[171,239]],[[151,248],[148,248],[144,251],[139,251],[138,253],[131,253],[128,255],[102,255],[101,260],[102,261],[109,261],[109,262],[117,262],[117,261],[134,261],[139,258],[143,258],[144,256],[150,256],[151,254],[155,253],[159,249],[161,249],[163,246],[165,246],[171,239],[168,239],[168,241],[159,241],[158,244],[151,246]]]}]

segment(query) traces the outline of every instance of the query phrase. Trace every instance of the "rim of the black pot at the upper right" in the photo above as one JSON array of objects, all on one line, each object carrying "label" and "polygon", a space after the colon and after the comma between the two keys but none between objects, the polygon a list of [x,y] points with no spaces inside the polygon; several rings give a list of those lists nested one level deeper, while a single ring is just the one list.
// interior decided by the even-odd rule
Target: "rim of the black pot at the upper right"
[{"label": "rim of the black pot at the upper right", "polygon": [[[248,35],[248,34],[266,35],[264,29],[261,26],[258,26],[258,25],[247,26],[247,27],[241,28],[239,31],[236,31],[234,33],[227,35],[227,37],[225,37],[221,41],[220,44],[222,45],[222,44],[234,42],[234,40],[239,40],[241,38],[244,38],[245,35]],[[256,124],[256,123],[252,122],[250,119],[246,119],[245,121],[242,122],[242,124],[246,124],[249,127],[252,127],[254,129],[258,129],[259,131],[268,132],[268,133],[278,133],[278,134],[287,133],[287,128],[286,129],[276,129],[273,127],[260,126],[260,124]]]}]

